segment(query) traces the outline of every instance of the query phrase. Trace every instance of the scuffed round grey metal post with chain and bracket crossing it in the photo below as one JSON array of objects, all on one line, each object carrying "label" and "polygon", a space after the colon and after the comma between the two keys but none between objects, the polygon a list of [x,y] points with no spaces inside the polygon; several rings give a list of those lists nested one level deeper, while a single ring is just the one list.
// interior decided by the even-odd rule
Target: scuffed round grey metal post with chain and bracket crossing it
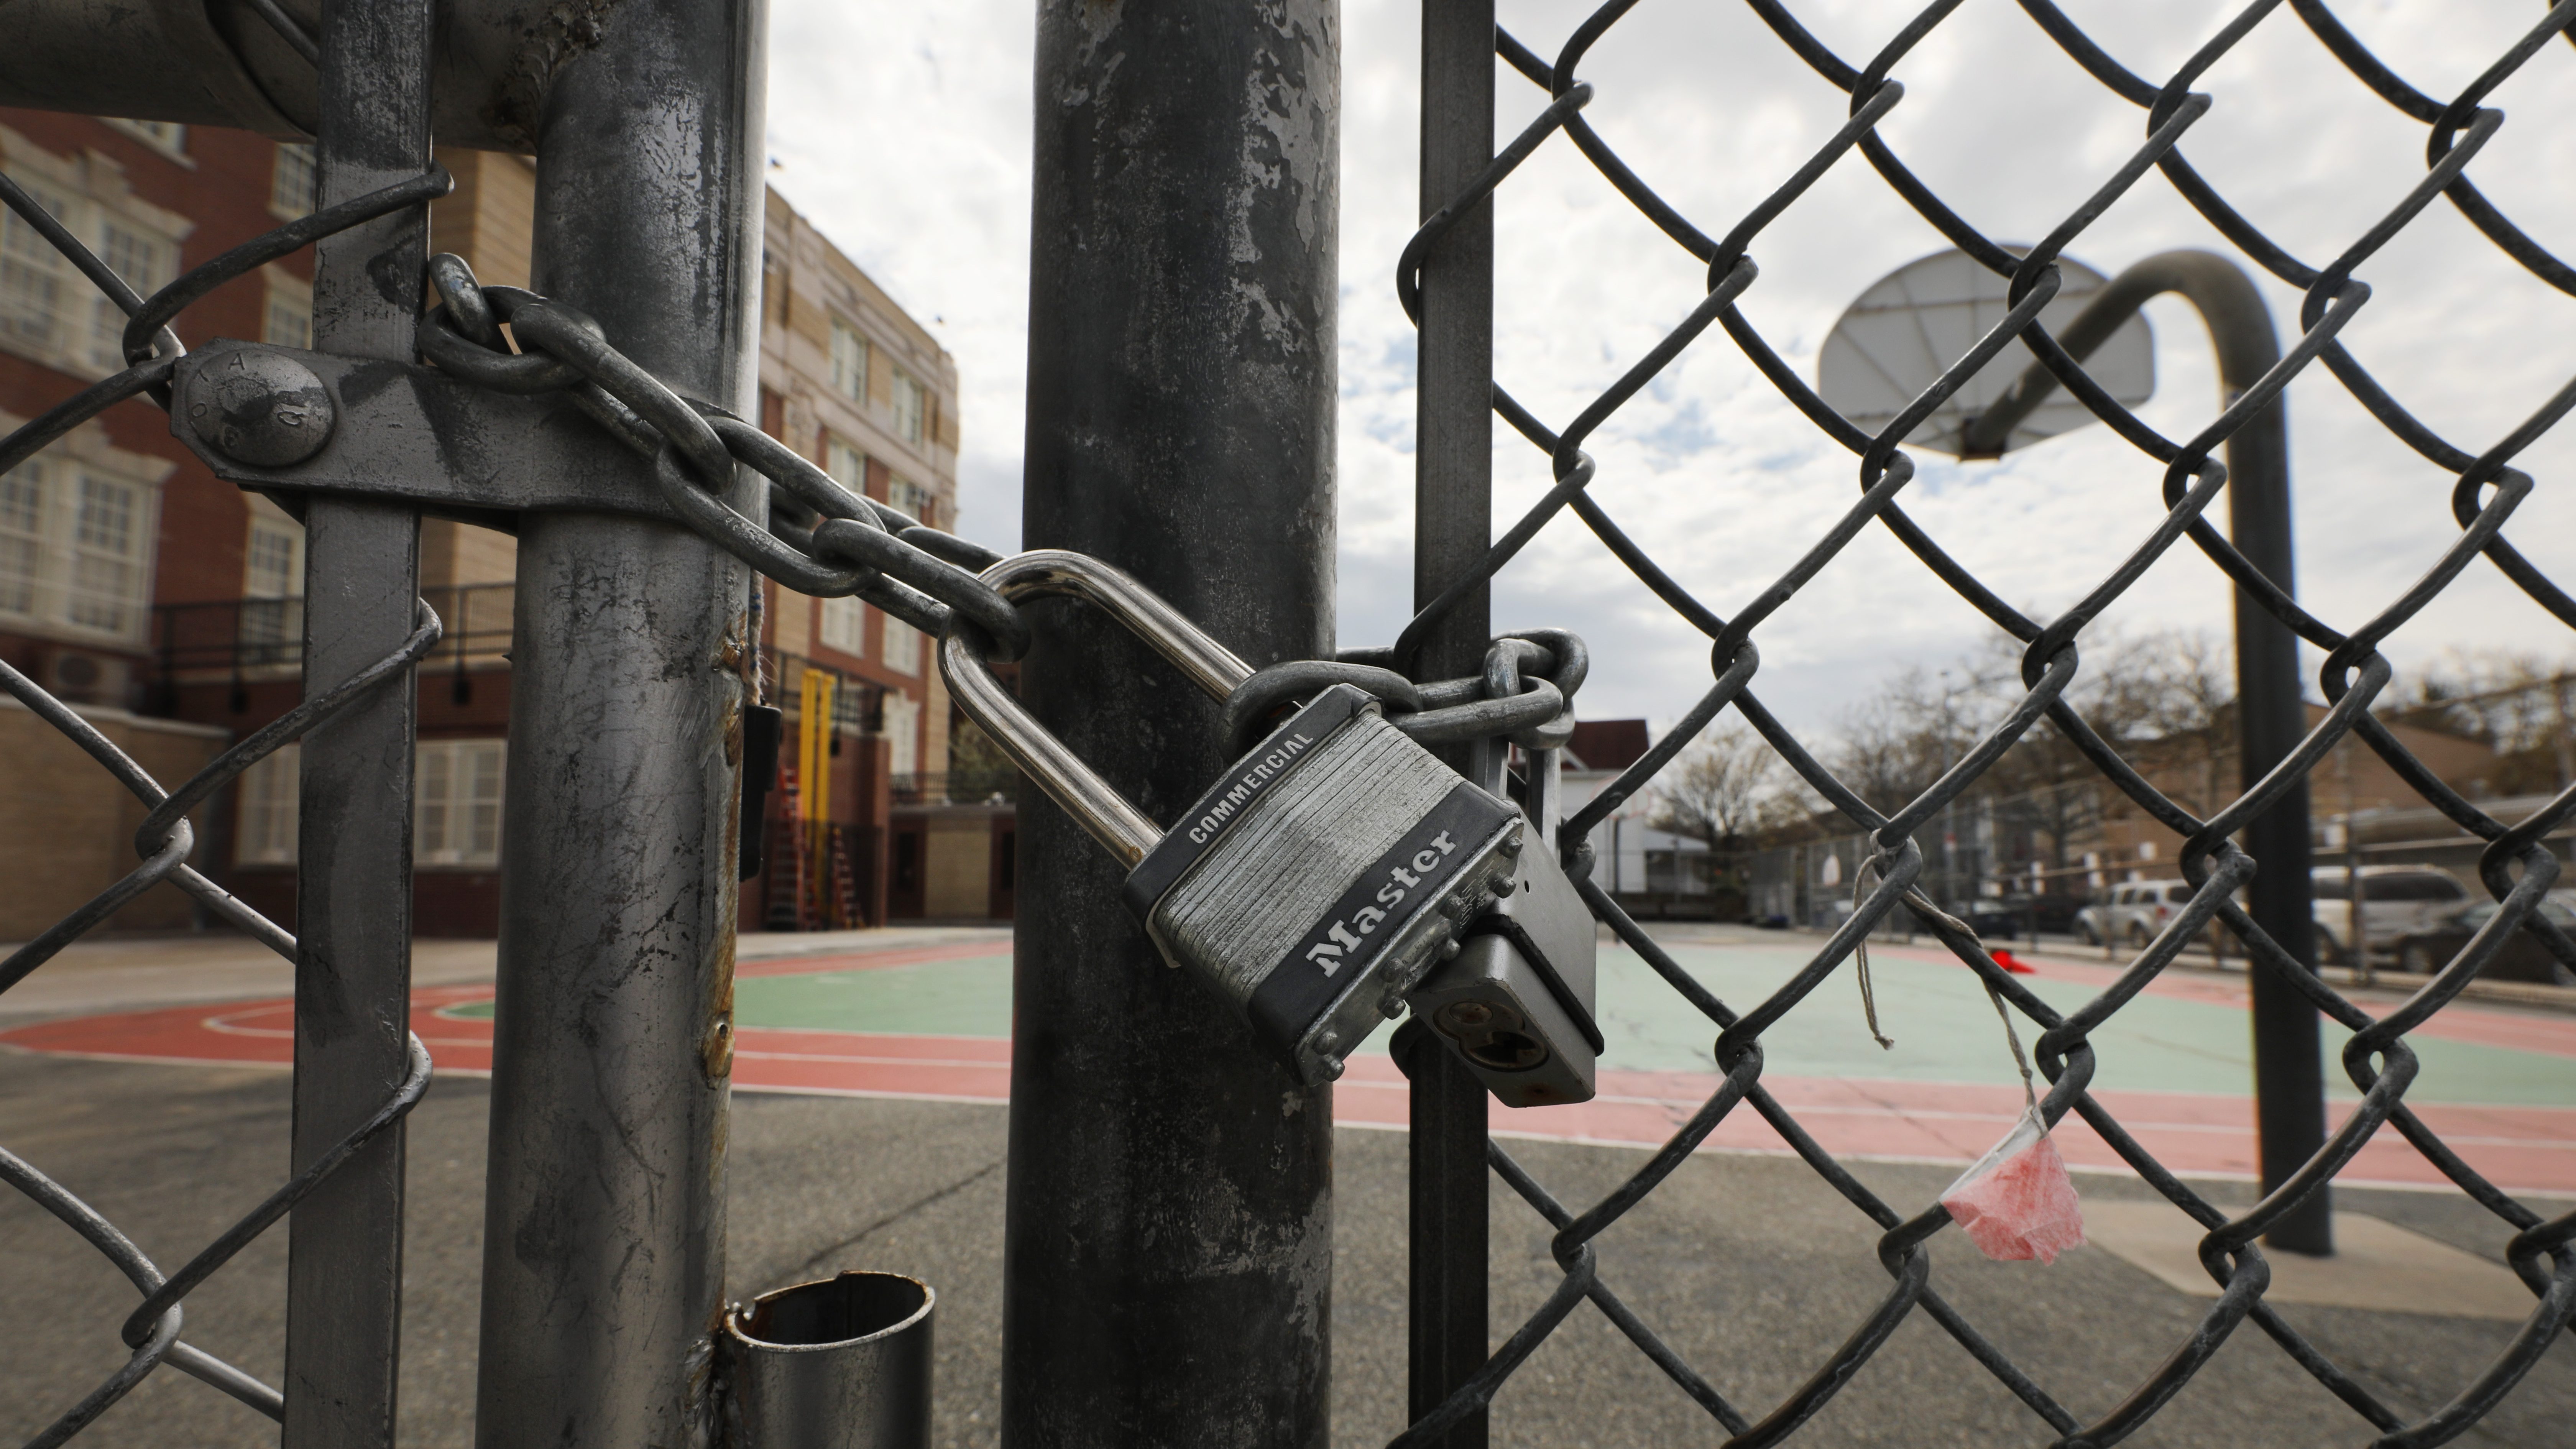
[{"label": "scuffed round grey metal post with chain and bracket crossing it", "polygon": [[[739,413],[757,382],[765,54],[760,0],[629,0],[538,111],[536,286],[675,392]],[[590,425],[569,402],[562,420]],[[729,503],[760,518],[744,477]],[[747,572],[685,529],[523,518],[484,1449],[706,1434],[747,601]]]}]

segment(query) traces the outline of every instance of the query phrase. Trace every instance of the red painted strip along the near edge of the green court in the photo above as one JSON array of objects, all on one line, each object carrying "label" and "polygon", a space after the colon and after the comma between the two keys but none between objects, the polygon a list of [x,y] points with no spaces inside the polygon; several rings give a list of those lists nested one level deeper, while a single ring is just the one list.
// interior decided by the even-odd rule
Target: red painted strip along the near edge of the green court
[{"label": "red painted strip along the near edge of the green court", "polygon": [[[492,1070],[492,1024],[438,1016],[446,1006],[489,995],[492,987],[415,993],[412,1031],[440,1070]],[[46,1021],[0,1031],[0,1044],[118,1060],[289,1065],[294,1003],[180,1006]],[[2012,1085],[1795,1075],[1762,1080],[1837,1158],[1968,1163],[2022,1111],[2022,1093]],[[1010,1101],[1010,1042],[747,1026],[734,1042],[734,1085],[814,1096]],[[1703,1073],[1602,1073],[1595,1101],[1525,1111],[1494,1104],[1492,1127],[1510,1137],[1656,1147],[1690,1122],[1716,1085],[1718,1078]],[[2177,1173],[2254,1176],[2249,1098],[2154,1091],[2102,1091],[2097,1098]],[[2416,1114],[2488,1181],[2514,1191],[2576,1194],[2576,1109],[2429,1104]],[[1352,1057],[1334,1093],[1334,1119],[1350,1127],[1404,1127],[1406,1116],[1406,1085],[1396,1065],[1381,1055]],[[1790,1147],[1752,1106],[1736,1106],[1705,1150]],[[2058,1150],[2076,1168],[2125,1171],[2110,1145],[2076,1116],[2058,1127]],[[2403,1137],[2380,1129],[2342,1181],[2442,1186],[2445,1178]]]}]

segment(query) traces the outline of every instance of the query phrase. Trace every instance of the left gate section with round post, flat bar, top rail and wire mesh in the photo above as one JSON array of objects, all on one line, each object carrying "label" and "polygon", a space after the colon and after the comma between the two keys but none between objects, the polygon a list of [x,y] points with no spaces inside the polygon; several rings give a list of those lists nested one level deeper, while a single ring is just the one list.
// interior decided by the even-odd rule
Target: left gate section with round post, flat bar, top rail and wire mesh
[{"label": "left gate section with round post, flat bar, top rail and wire mesh", "polygon": [[[70,1439],[160,1364],[278,1418],[289,1449],[394,1439],[402,1116],[430,1080],[407,1031],[415,663],[440,637],[417,598],[425,511],[515,529],[523,570],[479,1441],[703,1444],[724,1307],[737,763],[760,699],[750,570],[734,554],[757,554],[742,529],[768,518],[778,474],[881,539],[914,523],[814,490],[703,420],[752,402],[765,10],[631,0],[605,23],[523,15],[507,0],[443,13],[430,0],[252,0],[211,15],[214,31],[185,8],[116,26],[85,0],[13,13],[21,49],[0,64],[0,98],[268,134],[307,124],[319,209],[142,299],[0,186],[131,317],[131,366],[10,433],[0,467],[126,397],[170,405],[173,431],[219,477],[270,492],[307,526],[307,699],[165,792],[33,681],[0,670],[0,686],[155,807],[144,864],[0,964],[0,990],[149,884],[180,884],[296,962],[294,1176],[165,1279],[111,1222],[0,1152],[0,1178],[144,1292],[124,1328],[129,1364],[36,1444]],[[245,15],[247,36],[227,28]],[[443,309],[422,317],[428,204],[451,188],[430,162],[433,90],[448,106],[443,139],[546,157],[533,266],[554,299],[487,294],[451,268],[435,278]],[[515,106],[474,106],[495,95]],[[165,330],[304,245],[317,245],[312,351],[185,356]],[[513,312],[531,356],[510,356],[492,327]],[[569,335],[536,356],[546,322]],[[420,353],[443,366],[415,364]],[[693,410],[672,387],[716,405]],[[567,428],[572,410],[605,428]],[[721,492],[665,487],[675,451]],[[752,454],[757,472],[729,451]],[[827,583],[891,588],[858,572]],[[899,614],[945,627],[922,596]],[[185,864],[185,815],[299,735],[289,936]],[[178,1333],[180,1299],[289,1212],[281,1390]]]}]

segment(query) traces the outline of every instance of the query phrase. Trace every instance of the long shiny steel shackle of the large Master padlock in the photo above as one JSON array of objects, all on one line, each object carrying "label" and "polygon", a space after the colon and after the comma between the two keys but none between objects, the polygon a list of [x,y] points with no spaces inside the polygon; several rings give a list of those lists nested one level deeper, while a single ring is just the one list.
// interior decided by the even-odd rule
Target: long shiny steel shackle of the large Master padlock
[{"label": "long shiny steel shackle of the large Master padlock", "polygon": [[[1092,603],[1126,624],[1128,632],[1151,645],[1157,655],[1172,660],[1190,683],[1218,701],[1252,678],[1252,665],[1234,657],[1234,650],[1211,639],[1198,624],[1190,624],[1188,616],[1154,596],[1154,590],[1095,557],[1066,549],[1033,549],[992,565],[981,578],[1012,603],[1023,598],[1082,598]],[[1146,820],[1141,810],[1110,789],[1110,781],[1100,779],[1092,766],[1064,748],[1064,740],[1056,740],[1028,717],[1028,709],[1002,688],[1002,681],[992,676],[992,665],[966,642],[963,632],[940,639],[940,676],[948,681],[948,694],[958,701],[958,709],[992,735],[992,743],[1010,755],[1010,763],[1020,766],[1020,773],[1033,779],[1048,799],[1064,807],[1123,866],[1133,869],[1162,841],[1159,825]]]}]

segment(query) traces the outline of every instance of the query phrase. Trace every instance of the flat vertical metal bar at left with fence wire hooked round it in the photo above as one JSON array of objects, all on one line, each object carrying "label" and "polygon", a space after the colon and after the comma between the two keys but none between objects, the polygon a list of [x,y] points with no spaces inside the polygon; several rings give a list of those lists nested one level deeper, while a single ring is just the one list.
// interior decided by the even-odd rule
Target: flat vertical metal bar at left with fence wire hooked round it
[{"label": "flat vertical metal bar at left with fence wire hooked round it", "polygon": [[[430,5],[332,0],[322,10],[322,204],[430,165]],[[337,232],[314,255],[314,345],[412,356],[428,206]],[[304,694],[330,691],[417,627],[420,513],[304,505]],[[294,1168],[330,1152],[402,1085],[412,993],[415,673],[314,727],[299,763]],[[286,1449],[394,1444],[402,1338],[397,1122],[289,1220]]]}]

